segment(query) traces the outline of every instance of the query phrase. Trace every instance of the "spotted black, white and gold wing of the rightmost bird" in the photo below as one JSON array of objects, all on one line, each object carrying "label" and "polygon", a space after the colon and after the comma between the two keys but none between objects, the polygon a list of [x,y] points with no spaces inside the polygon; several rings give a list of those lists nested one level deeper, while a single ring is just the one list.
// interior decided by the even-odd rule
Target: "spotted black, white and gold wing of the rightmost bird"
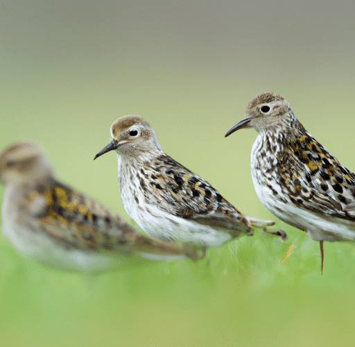
[{"label": "spotted black, white and gold wing of the rightmost bird", "polygon": [[293,183],[291,201],[300,208],[344,219],[355,219],[355,174],[343,167],[309,133],[290,142],[278,175]]}]

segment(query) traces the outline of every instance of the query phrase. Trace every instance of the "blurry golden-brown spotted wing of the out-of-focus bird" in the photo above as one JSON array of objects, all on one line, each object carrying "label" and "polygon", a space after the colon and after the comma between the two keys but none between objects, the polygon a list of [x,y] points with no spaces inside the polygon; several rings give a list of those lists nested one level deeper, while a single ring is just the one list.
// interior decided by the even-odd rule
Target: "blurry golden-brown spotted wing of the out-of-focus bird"
[{"label": "blurry golden-brown spotted wing of the out-of-focus bird", "polygon": [[122,248],[130,251],[135,228],[84,194],[54,182],[45,192],[33,192],[32,205],[46,199],[41,211],[33,211],[40,226],[58,242],[83,250]]}]

